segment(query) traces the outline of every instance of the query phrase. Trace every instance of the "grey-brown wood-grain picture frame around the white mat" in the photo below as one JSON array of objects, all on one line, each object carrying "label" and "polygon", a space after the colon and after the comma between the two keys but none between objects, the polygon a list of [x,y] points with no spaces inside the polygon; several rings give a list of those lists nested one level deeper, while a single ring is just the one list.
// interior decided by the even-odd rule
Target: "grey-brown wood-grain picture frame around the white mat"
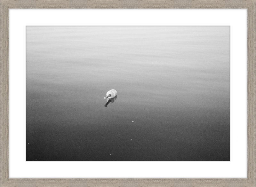
[{"label": "grey-brown wood-grain picture frame around the white mat", "polygon": [[[256,186],[255,1],[1,1],[0,185],[1,186]],[[10,179],[8,162],[8,10],[11,8],[243,8],[248,14],[247,179]]]}]

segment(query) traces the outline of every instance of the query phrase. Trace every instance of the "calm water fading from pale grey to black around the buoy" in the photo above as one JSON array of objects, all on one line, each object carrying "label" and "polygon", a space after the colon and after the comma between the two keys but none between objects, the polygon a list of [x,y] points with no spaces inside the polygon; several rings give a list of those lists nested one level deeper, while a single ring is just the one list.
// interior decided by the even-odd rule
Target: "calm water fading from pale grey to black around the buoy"
[{"label": "calm water fading from pale grey to black around the buoy", "polygon": [[27,161],[230,160],[228,26],[27,26],[26,61]]}]

